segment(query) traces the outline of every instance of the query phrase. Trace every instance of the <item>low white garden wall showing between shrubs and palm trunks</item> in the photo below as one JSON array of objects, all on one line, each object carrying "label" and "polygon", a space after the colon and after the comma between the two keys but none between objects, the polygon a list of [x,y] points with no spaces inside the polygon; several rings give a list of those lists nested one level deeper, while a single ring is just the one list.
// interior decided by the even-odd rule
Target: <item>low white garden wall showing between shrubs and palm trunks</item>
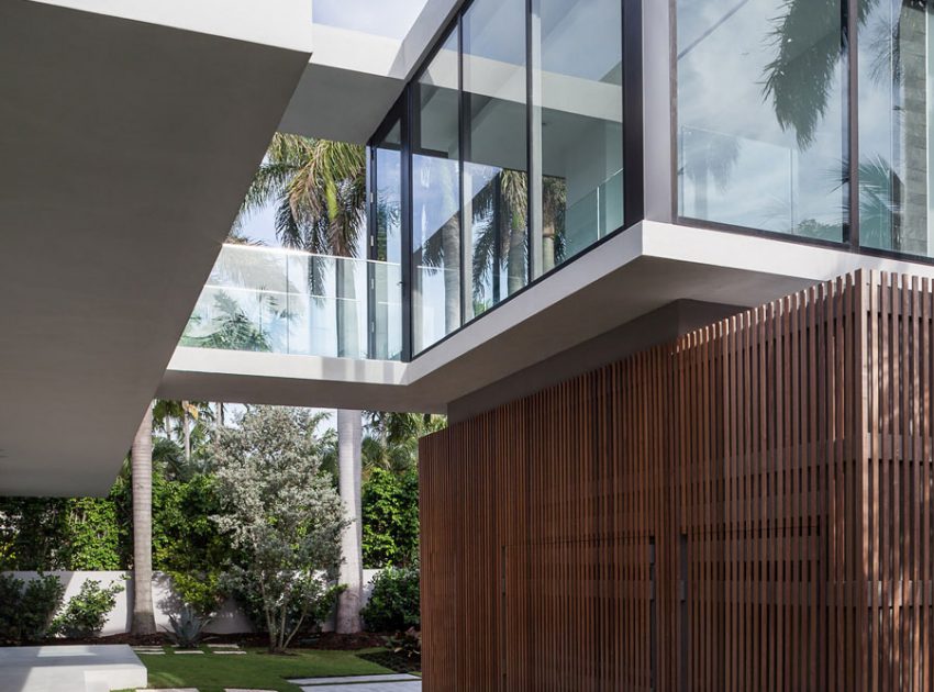
[{"label": "low white garden wall showing between shrubs and palm trunks", "polygon": [[[373,592],[373,578],[379,572],[376,569],[364,570],[364,604],[369,600],[369,594]],[[9,572],[18,579],[29,581],[37,577],[37,572]],[[130,632],[131,618],[133,616],[132,599],[133,599],[133,579],[132,572],[66,572],[51,571],[45,574],[54,574],[58,577],[65,585],[65,598],[63,603],[67,603],[68,599],[77,595],[81,589],[81,584],[92,579],[101,582],[102,587],[109,587],[113,583],[123,584],[122,592],[116,594],[116,605],[107,618],[107,624],[103,627],[102,635],[114,635]],[[175,615],[178,612],[178,599],[171,590],[171,580],[165,574],[155,574],[153,577],[153,606],[156,611],[156,627],[160,630],[170,629],[169,615]],[[324,630],[334,628],[333,623],[326,623]],[[232,600],[227,600],[222,606],[214,620],[207,627],[207,632],[214,634],[233,634],[252,632],[253,627],[249,620],[246,617],[240,606]]]}]

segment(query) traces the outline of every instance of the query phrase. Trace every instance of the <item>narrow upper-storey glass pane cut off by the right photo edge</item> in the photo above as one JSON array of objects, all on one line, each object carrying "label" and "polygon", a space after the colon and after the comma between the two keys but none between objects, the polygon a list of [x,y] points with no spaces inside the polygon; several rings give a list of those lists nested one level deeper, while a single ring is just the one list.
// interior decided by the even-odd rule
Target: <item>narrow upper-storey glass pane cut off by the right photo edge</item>
[{"label": "narrow upper-storey glass pane cut off by the right photo edge", "polygon": [[934,8],[872,3],[859,29],[859,242],[934,256]]}]

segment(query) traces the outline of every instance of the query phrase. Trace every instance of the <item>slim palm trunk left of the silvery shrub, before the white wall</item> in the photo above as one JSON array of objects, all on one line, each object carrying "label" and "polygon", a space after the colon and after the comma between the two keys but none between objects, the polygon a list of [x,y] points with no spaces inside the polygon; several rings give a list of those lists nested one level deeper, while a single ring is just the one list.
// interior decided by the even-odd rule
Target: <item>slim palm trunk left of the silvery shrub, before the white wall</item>
[{"label": "slim palm trunk left of the silvery shrub, before the white wall", "polygon": [[131,632],[156,632],[153,612],[153,409],[136,431],[130,451],[133,491],[133,622]]}]

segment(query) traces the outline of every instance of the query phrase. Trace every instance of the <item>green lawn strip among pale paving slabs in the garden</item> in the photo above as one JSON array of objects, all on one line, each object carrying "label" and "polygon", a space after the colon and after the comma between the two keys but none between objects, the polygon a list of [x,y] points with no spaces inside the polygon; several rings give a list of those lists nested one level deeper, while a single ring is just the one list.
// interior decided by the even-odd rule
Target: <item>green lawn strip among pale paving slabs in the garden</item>
[{"label": "green lawn strip among pale paving slabs in the garden", "polygon": [[201,692],[223,692],[224,688],[253,688],[298,692],[287,678],[322,676],[366,676],[392,672],[357,658],[362,651],[294,650],[289,656],[269,656],[263,649],[246,648],[245,656],[219,656],[208,647],[202,656],[178,655],[166,647],[165,656],[140,654],[149,670],[151,688],[198,688]]}]

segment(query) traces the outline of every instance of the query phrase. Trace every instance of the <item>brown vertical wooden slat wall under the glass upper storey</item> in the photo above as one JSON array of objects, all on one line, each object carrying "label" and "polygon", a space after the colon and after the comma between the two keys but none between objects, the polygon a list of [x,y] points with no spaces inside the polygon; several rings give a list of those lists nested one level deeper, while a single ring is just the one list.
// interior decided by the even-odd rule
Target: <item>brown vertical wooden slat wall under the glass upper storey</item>
[{"label": "brown vertical wooden slat wall under the glass upper storey", "polygon": [[934,689],[932,316],[857,274],[425,438],[425,691]]}]

